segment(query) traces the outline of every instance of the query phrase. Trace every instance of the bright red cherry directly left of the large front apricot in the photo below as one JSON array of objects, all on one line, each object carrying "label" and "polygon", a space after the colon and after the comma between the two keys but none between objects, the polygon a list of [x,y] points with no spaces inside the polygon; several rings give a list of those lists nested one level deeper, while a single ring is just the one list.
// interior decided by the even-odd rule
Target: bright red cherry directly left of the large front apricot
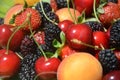
[{"label": "bright red cherry directly left of the large front apricot", "polygon": [[43,78],[44,80],[51,80],[51,78],[56,78],[56,72],[59,64],[60,60],[58,58],[54,57],[46,60],[44,57],[40,57],[35,62],[35,70],[37,74],[41,74],[40,78]]}]

